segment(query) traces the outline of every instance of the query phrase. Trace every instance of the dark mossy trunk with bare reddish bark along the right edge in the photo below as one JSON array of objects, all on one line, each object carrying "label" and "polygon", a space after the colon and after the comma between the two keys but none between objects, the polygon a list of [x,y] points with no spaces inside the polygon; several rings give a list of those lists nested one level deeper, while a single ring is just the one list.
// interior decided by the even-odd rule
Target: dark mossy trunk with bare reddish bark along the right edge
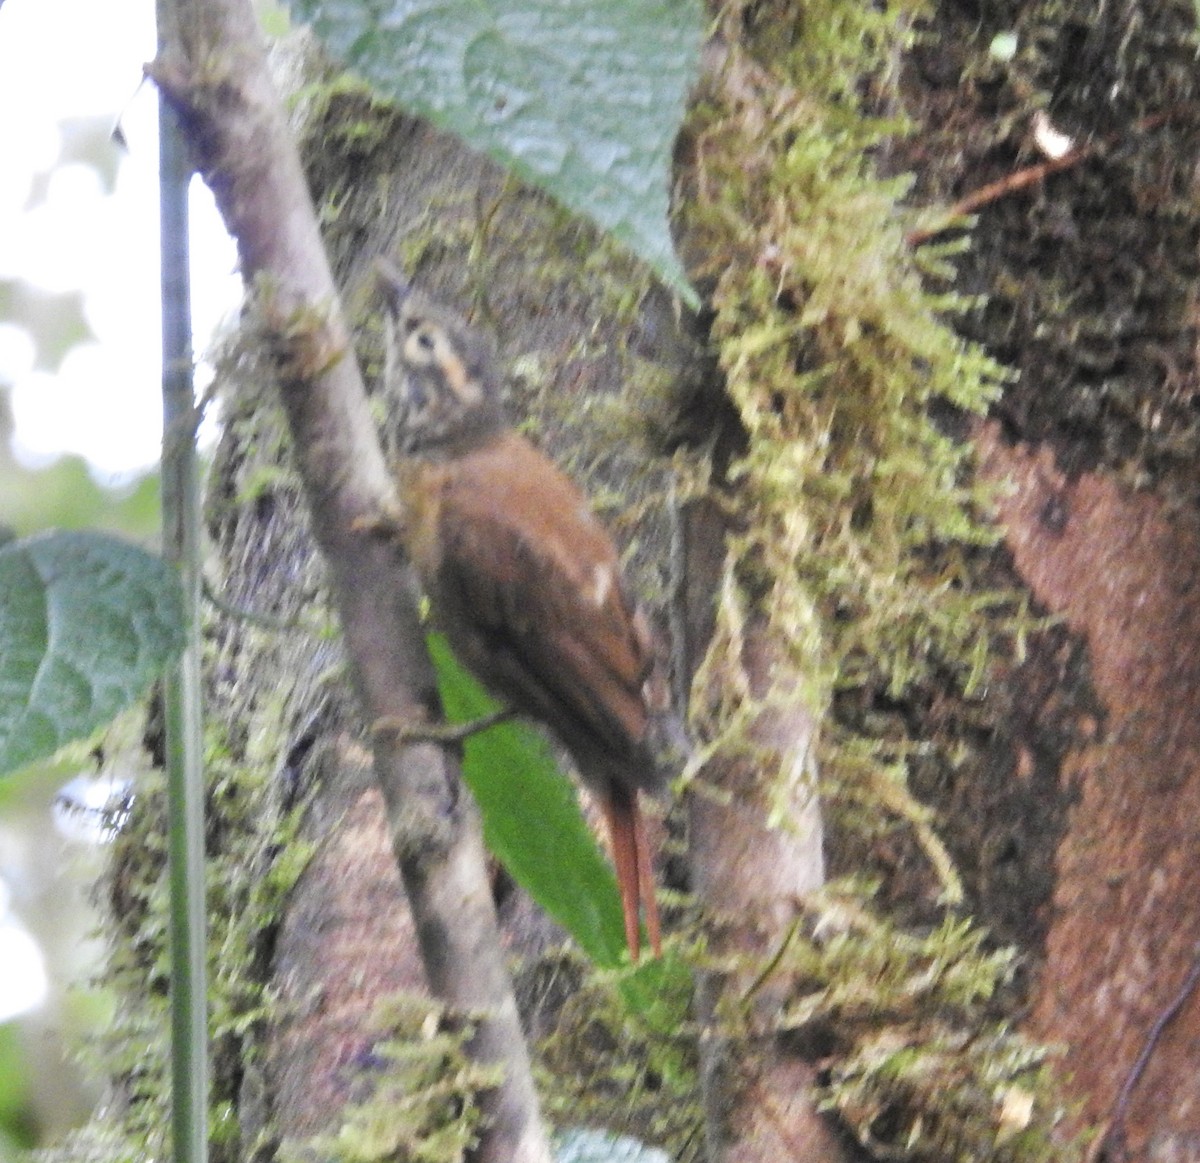
[{"label": "dark mossy trunk with bare reddish bark along the right edge", "polygon": [[[985,206],[962,263],[989,296],[971,334],[1020,372],[974,437],[1008,490],[1014,574],[1058,627],[997,685],[986,759],[948,807],[970,809],[952,815],[956,851],[984,918],[1030,958],[1026,1025],[1067,1048],[1078,1121],[1105,1129],[1109,1159],[1190,1157],[1196,12],[974,7],[941,4],[910,72],[914,142],[934,162],[920,197],[953,200],[1042,161],[1039,116],[1081,155]],[[1010,60],[988,53],[1001,32]]]}]

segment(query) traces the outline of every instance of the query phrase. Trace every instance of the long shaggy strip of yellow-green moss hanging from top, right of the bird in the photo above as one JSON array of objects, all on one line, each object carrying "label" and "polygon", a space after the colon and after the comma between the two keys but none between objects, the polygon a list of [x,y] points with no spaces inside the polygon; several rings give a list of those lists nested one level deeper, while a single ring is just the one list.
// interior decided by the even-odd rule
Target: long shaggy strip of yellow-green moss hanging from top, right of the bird
[{"label": "long shaggy strip of yellow-green moss hanging from top, right of the bird", "polygon": [[[762,107],[710,106],[695,130],[702,193],[689,215],[721,256],[713,332],[746,432],[730,474],[746,532],[697,684],[716,737],[745,723],[727,699],[742,685],[728,675],[746,617],[736,605],[763,612],[822,718],[836,693],[865,685],[896,699],[948,672],[973,691],[992,637],[1012,633],[1013,597],[980,593],[962,551],[995,540],[990,493],[932,416],[936,404],[983,412],[1008,373],[950,325],[966,304],[929,289],[922,269],[946,256],[908,253],[910,182],[878,178],[870,158],[898,125],[863,115],[860,78],[904,47],[902,13],[846,8],[738,13],[773,29],[794,19],[803,35],[757,60],[736,49],[731,74],[766,71]],[[836,52],[834,34],[847,38]],[[791,96],[768,116],[772,86]],[[878,771],[902,754],[878,739],[869,753],[864,765],[862,739],[826,732],[821,767],[839,795],[878,802]],[[917,819],[902,799],[901,781],[883,807]]]}]

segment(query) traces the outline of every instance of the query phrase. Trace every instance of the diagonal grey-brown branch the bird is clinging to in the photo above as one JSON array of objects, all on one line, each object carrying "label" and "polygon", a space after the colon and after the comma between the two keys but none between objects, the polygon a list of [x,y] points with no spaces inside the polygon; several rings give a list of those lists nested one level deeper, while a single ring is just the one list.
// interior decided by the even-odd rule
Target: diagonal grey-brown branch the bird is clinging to
[{"label": "diagonal grey-brown branch the bird is clinging to", "polygon": [[[175,18],[146,73],[180,115],[265,319],[364,714],[430,719],[437,695],[410,588],[360,520],[394,500],[386,467],[248,0],[178,0]],[[544,1163],[474,804],[442,747],[383,732],[374,755],[430,987],[475,1021],[473,1056],[503,1066],[473,1158]]]}]

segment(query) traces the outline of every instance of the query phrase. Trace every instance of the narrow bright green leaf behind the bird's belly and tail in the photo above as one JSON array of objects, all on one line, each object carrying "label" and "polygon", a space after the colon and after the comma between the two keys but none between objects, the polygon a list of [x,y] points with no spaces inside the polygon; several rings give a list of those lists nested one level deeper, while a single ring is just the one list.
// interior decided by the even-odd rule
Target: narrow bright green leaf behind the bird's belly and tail
[{"label": "narrow bright green leaf behind the bird's belly and tail", "polygon": [[[451,723],[497,708],[440,634],[428,643]],[[484,817],[484,840],[512,879],[598,965],[619,965],[625,929],[617,877],[546,741],[528,724],[500,723],[467,739],[462,774]]]}]

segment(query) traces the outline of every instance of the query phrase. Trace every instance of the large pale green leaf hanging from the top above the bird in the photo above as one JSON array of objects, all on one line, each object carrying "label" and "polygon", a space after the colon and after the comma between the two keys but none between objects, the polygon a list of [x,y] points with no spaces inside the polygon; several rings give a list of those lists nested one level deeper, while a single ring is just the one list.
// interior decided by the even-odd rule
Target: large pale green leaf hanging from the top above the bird
[{"label": "large pale green leaf hanging from the top above the bird", "polygon": [[691,306],[668,226],[695,0],[294,0],[400,104],[587,215]]}]

